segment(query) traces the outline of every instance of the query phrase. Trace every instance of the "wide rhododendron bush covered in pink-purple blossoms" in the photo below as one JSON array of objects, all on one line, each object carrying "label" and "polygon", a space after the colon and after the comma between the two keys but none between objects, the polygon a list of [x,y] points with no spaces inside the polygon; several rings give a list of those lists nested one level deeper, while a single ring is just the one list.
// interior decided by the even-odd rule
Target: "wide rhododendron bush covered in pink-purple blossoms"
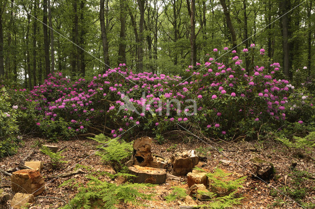
[{"label": "wide rhododendron bush covered in pink-purple blossoms", "polygon": [[[252,49],[226,54],[220,61],[216,52],[208,62],[189,66],[183,77],[133,73],[125,64],[92,80],[55,73],[27,99],[35,105],[33,123],[37,131],[57,138],[92,130],[117,137],[129,129],[126,135],[149,131],[160,136],[178,128],[216,137],[252,136],[264,127],[282,127],[294,86],[279,79],[280,64],[262,66],[266,60],[257,58],[247,73],[241,56],[250,57]],[[311,102],[304,105],[314,114]],[[291,121],[301,120],[297,117]]]}]

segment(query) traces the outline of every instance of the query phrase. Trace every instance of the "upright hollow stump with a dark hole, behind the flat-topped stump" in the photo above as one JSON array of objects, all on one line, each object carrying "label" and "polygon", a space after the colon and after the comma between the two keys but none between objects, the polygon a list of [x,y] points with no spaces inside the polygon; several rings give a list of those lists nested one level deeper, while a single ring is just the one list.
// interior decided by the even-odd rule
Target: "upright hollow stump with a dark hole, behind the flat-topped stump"
[{"label": "upright hollow stump with a dark hole, behind the flat-topped stump", "polygon": [[152,138],[137,138],[133,143],[133,165],[147,166],[152,168],[165,168],[166,164],[153,157],[151,152]]}]

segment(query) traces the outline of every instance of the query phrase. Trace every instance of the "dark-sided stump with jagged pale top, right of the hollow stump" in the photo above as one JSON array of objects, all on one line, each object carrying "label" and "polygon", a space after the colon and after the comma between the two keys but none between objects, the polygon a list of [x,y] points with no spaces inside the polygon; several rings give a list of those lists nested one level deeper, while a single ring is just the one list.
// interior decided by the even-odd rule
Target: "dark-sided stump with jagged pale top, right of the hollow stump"
[{"label": "dark-sided stump with jagged pale top, right of the hollow stump", "polygon": [[173,175],[186,175],[198,164],[198,157],[194,150],[176,153],[170,158]]}]

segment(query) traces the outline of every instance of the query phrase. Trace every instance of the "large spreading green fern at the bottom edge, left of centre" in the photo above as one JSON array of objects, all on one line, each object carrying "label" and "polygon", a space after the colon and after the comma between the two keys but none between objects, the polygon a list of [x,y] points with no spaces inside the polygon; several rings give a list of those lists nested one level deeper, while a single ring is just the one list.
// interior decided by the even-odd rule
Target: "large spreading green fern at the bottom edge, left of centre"
[{"label": "large spreading green fern at the bottom edge, left of centre", "polygon": [[138,189],[146,189],[151,184],[145,183],[115,183],[103,182],[95,177],[89,176],[87,186],[81,184],[78,193],[70,200],[69,205],[63,209],[70,208],[105,208],[114,209],[120,202],[138,204],[142,200],[151,199],[151,194],[144,194]]}]

